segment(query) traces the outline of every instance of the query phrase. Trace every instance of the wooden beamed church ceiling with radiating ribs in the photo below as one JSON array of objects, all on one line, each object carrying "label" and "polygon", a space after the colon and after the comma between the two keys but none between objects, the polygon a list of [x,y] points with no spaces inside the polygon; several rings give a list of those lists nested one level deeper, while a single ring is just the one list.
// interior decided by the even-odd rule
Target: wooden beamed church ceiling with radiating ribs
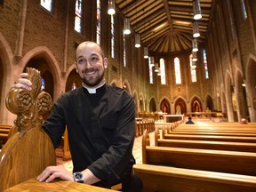
[{"label": "wooden beamed church ceiling with radiating ribs", "polygon": [[[205,41],[212,1],[200,0],[202,19],[197,44]],[[192,48],[193,0],[116,0],[120,12],[130,19],[132,31],[149,52],[184,52]]]}]

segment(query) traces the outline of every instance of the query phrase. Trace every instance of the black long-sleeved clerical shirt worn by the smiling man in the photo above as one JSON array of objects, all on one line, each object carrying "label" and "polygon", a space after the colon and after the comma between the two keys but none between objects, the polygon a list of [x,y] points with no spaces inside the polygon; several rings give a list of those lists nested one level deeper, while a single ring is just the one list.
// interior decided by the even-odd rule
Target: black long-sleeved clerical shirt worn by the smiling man
[{"label": "black long-sleeved clerical shirt worn by the smiling man", "polygon": [[96,93],[81,87],[62,94],[44,124],[55,148],[66,125],[73,172],[88,168],[103,187],[130,174],[135,164],[135,107],[128,92],[104,84]]}]

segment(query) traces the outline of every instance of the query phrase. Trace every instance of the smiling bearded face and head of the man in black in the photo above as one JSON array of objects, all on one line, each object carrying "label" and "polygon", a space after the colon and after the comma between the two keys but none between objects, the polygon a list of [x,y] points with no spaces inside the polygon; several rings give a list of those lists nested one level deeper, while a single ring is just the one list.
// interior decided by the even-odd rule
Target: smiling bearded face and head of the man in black
[{"label": "smiling bearded face and head of the man in black", "polygon": [[76,70],[88,87],[98,87],[104,82],[104,70],[108,67],[100,46],[93,42],[79,44],[76,49]]}]

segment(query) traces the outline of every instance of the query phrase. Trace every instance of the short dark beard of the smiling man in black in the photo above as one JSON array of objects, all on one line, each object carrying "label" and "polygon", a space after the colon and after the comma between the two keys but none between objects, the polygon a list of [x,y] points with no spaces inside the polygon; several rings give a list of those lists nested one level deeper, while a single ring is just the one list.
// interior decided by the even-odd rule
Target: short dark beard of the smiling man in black
[{"label": "short dark beard of the smiling man in black", "polygon": [[95,87],[95,86],[100,85],[100,82],[102,81],[102,79],[104,77],[104,71],[105,71],[104,69],[101,73],[98,69],[93,69],[93,70],[96,70],[95,72],[97,73],[97,76],[86,75],[86,72],[88,71],[86,69],[82,73],[83,74],[82,81],[88,87]]}]

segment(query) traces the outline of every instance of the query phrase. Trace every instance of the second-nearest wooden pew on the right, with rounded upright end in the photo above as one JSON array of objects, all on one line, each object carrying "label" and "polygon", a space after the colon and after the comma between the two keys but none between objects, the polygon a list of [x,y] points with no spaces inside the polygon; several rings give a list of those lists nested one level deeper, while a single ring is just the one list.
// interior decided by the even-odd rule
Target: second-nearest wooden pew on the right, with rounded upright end
[{"label": "second-nearest wooden pew on the right, with rounded upright end", "polygon": [[147,131],[143,133],[142,138],[142,163],[212,172],[256,175],[255,153],[149,146]]}]

